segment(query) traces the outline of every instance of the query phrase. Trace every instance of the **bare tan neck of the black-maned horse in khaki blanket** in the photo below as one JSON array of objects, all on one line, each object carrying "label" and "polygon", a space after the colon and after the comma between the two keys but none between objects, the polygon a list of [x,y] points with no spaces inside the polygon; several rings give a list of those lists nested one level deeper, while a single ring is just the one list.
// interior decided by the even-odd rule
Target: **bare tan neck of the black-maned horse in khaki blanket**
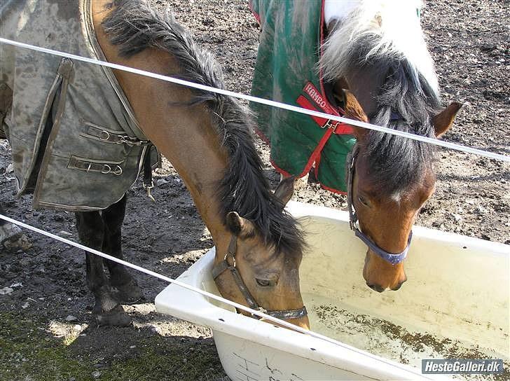
[{"label": "bare tan neck of the black-maned horse in khaki blanket", "polygon": [[[102,13],[94,13],[97,39],[109,62],[158,74],[179,73],[179,65],[171,55],[151,48],[130,58],[120,57],[100,27],[103,18]],[[210,111],[203,104],[172,105],[191,100],[191,91],[182,86],[127,71],[114,73],[144,134],[172,162],[186,183],[217,246],[218,237],[227,235],[224,234],[217,189],[228,158],[212,124]]]}]

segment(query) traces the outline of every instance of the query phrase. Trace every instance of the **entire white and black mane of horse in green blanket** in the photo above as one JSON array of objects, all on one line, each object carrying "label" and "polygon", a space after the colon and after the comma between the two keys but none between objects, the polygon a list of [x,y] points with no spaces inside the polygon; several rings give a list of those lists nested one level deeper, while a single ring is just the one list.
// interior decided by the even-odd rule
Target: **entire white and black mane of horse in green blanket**
[{"label": "entire white and black mane of horse in green blanket", "polygon": [[[319,63],[329,81],[358,75],[381,78],[371,123],[434,137],[439,87],[417,16],[420,1],[369,0],[339,22]],[[373,181],[398,193],[434,158],[430,144],[370,131],[364,141]]]}]

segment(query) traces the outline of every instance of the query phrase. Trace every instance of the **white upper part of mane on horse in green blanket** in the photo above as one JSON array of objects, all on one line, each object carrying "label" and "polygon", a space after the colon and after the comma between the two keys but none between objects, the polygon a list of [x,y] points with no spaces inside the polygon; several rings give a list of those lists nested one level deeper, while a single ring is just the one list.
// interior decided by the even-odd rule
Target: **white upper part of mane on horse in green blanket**
[{"label": "white upper part of mane on horse in green blanket", "polygon": [[[413,71],[411,81],[418,84],[421,74],[439,95],[434,63],[417,15],[421,0],[359,0],[345,16],[340,10],[343,1],[329,3],[327,11],[335,13],[333,8],[337,7],[340,20],[325,43],[320,62],[326,78],[341,78],[352,69],[352,64],[363,64],[363,61],[407,60]],[[367,53],[364,60],[354,63],[352,53],[362,48]]]}]

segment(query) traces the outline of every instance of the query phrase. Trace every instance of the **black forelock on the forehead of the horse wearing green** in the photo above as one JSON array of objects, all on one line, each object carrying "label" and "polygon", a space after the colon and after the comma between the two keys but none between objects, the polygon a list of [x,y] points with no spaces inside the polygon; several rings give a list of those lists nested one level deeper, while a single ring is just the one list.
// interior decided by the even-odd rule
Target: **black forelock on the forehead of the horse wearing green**
[{"label": "black forelock on the forehead of the horse wearing green", "polygon": [[[382,60],[382,59],[381,59]],[[434,138],[432,120],[440,101],[422,75],[413,81],[411,64],[406,59],[369,62],[366,71],[385,69],[377,97],[377,111],[368,115],[371,123],[393,130]],[[398,193],[419,181],[432,169],[435,146],[371,130],[364,141],[371,179],[387,195]]]}]

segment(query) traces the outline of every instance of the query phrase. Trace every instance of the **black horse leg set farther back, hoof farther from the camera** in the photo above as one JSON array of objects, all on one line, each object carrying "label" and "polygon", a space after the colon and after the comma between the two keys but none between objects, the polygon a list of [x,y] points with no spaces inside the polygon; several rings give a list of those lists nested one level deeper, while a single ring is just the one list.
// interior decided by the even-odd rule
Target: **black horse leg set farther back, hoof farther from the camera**
[{"label": "black horse leg set farther back, hoof farther from the camera", "polygon": [[[122,252],[122,224],[125,216],[127,195],[120,201],[104,209],[102,219],[104,222],[103,251],[119,259],[123,259]],[[110,282],[118,291],[118,298],[122,303],[136,303],[144,297],[142,289],[124,265],[112,261],[104,261],[110,271]]]}]

